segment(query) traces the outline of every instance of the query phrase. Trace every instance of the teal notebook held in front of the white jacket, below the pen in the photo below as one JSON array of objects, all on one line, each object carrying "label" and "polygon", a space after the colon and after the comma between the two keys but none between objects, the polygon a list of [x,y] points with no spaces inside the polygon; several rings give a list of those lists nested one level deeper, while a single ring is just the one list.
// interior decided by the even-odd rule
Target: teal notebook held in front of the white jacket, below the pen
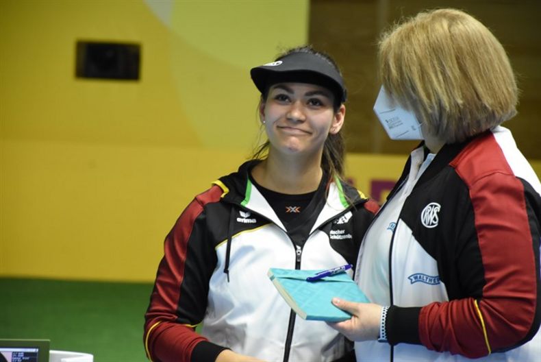
[{"label": "teal notebook held in front of the white jacket, below the pen", "polygon": [[322,270],[268,269],[268,277],[280,295],[299,317],[307,320],[340,322],[351,315],[331,303],[333,297],[368,303],[366,295],[346,273],[327,276],[315,282],[306,278]]}]

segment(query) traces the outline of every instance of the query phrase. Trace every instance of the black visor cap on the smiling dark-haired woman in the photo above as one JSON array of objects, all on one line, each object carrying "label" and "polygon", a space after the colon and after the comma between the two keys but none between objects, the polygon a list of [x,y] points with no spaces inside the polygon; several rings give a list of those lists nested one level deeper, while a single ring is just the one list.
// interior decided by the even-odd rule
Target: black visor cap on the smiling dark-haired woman
[{"label": "black visor cap on the smiling dark-haired woman", "polygon": [[262,94],[273,84],[298,82],[328,88],[340,103],[347,99],[346,87],[340,73],[328,60],[312,53],[288,54],[276,62],[252,68],[250,75]]}]

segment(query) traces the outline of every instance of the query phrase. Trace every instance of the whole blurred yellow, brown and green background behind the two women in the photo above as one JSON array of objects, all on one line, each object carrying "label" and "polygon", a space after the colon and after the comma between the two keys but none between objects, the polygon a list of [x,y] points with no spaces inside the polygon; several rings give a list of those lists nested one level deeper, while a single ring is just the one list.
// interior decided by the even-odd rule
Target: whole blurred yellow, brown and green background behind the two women
[{"label": "whole blurred yellow, brown and green background behind the two women", "polygon": [[145,361],[163,239],[251,155],[249,69],[288,47],[342,67],[347,177],[382,202],[416,143],[373,115],[377,39],[442,7],[509,53],[522,94],[505,126],[540,176],[538,0],[0,0],[0,338]]}]

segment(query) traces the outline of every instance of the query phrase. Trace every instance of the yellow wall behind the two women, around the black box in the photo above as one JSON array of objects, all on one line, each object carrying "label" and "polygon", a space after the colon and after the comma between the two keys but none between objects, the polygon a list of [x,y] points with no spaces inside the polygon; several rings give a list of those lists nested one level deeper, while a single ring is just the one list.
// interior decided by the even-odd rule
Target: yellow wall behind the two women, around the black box
[{"label": "yellow wall behind the two women, around the black box", "polygon": [[[0,276],[153,280],[181,210],[249,156],[248,70],[305,43],[307,6],[0,2]],[[140,43],[140,82],[76,79],[78,39]],[[348,176],[370,194],[404,160],[351,154]]]}]

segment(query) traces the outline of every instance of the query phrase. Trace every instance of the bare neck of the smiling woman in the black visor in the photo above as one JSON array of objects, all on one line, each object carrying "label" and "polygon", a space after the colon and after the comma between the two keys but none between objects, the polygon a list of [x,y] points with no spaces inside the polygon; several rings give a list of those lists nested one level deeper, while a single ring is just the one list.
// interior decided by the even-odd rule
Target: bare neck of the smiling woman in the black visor
[{"label": "bare neck of the smiling woman in the black visor", "polygon": [[252,169],[252,177],[266,189],[299,195],[318,189],[323,170],[319,157],[276,155],[269,149],[268,157]]}]

